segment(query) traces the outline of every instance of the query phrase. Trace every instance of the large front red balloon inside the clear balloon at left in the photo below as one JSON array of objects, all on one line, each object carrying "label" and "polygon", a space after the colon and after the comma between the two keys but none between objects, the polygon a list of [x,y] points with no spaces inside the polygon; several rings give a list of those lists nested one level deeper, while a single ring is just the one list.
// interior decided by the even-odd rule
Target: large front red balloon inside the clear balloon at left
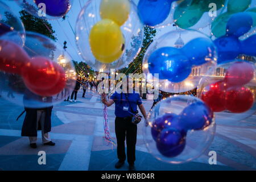
[{"label": "large front red balloon inside the clear balloon at left", "polygon": [[65,87],[65,71],[46,57],[33,57],[22,71],[27,88],[39,96],[53,96]]}]

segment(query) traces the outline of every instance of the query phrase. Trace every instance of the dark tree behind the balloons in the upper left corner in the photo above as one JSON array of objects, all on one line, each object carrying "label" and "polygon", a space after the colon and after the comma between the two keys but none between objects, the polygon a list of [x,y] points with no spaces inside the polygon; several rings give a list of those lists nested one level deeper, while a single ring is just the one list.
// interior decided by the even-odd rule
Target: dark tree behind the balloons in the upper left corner
[{"label": "dark tree behind the balloons in the upper left corner", "polygon": [[51,24],[47,20],[36,18],[24,10],[19,11],[19,14],[26,31],[38,32],[39,34],[46,35],[48,38],[55,41],[57,40],[55,31],[52,29]]}]

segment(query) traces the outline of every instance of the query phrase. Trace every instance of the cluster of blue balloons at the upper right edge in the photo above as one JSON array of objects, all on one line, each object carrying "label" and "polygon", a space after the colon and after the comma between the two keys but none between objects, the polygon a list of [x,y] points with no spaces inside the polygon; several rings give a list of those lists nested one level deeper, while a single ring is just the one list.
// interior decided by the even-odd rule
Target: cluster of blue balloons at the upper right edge
[{"label": "cluster of blue balloons at the upper right edge", "polygon": [[232,61],[241,54],[256,56],[256,35],[245,40],[239,39],[250,31],[252,26],[253,18],[248,13],[237,13],[231,16],[226,25],[226,35],[214,40],[218,51],[218,64]]}]

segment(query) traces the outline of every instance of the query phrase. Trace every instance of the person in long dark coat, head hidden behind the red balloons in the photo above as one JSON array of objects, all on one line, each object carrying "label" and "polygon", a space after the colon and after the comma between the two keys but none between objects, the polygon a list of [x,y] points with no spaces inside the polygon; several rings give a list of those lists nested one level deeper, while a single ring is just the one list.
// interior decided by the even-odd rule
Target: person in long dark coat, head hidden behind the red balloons
[{"label": "person in long dark coat, head hidden behind the red balloons", "polygon": [[[37,102],[38,101],[38,102]],[[55,143],[51,141],[49,132],[51,131],[51,115],[52,108],[29,108],[32,104],[43,102],[52,102],[52,97],[38,96],[30,91],[26,91],[23,97],[23,103],[25,106],[26,115],[22,125],[22,137],[28,137],[30,139],[30,147],[36,148],[38,130],[42,130],[42,140],[44,145],[54,146]]]}]

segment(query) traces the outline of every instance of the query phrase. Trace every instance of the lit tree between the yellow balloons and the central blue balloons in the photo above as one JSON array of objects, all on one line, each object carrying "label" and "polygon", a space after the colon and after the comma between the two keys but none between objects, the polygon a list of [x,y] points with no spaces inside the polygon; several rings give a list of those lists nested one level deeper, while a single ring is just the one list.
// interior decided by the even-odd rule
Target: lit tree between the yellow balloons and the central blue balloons
[{"label": "lit tree between the yellow balloons and the central blue balloons", "polygon": [[[134,61],[129,64],[129,68],[123,68],[120,72],[126,73],[127,75],[129,73],[142,73],[142,60],[145,55],[145,52],[147,51],[148,46],[150,46],[150,44],[153,42],[155,34],[155,28],[146,26],[144,27],[144,38],[141,51],[138,53],[138,56],[134,59]],[[131,40],[131,47],[135,47],[135,45],[138,43],[138,37],[133,36]],[[126,50],[126,55],[128,53],[129,51]]]}]

